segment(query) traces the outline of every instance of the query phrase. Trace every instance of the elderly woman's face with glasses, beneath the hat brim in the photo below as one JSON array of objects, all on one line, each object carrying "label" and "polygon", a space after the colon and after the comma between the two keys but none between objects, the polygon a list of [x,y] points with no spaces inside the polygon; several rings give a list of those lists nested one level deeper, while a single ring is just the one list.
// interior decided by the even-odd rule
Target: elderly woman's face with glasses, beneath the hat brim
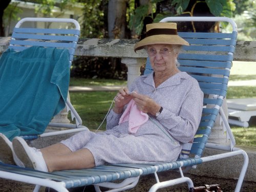
[{"label": "elderly woman's face with glasses, beneath the hat brim", "polygon": [[178,53],[173,51],[175,46],[156,44],[147,46],[146,50],[150,57],[152,69],[157,72],[167,72],[176,67]]}]

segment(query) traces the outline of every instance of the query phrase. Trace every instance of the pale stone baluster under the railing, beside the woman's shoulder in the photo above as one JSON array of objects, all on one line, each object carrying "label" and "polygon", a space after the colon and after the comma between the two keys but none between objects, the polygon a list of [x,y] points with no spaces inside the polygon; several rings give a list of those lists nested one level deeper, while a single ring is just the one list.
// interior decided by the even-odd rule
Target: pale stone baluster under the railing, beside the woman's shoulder
[{"label": "pale stone baluster under the railing, beside the woman's shoulder", "polygon": [[146,63],[145,58],[122,58],[121,62],[124,63],[127,68],[127,87],[130,87],[134,79],[140,76],[140,67]]}]

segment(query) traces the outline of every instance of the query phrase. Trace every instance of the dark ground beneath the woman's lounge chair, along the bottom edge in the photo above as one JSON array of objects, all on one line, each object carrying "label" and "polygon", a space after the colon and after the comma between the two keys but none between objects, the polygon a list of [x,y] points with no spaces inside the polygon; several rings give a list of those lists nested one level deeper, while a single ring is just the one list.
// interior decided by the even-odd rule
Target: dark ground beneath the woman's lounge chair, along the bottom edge
[{"label": "dark ground beneath the woman's lounge chair, along the bottom edge", "polygon": [[[210,173],[209,173],[210,175]],[[160,181],[165,181],[166,178],[177,178],[179,176],[176,172],[164,172],[159,174]],[[237,180],[233,179],[220,179],[220,178],[212,178],[212,177],[200,177],[195,176],[191,174],[185,174],[185,176],[190,177],[193,182],[194,186],[202,186],[203,184],[219,184],[223,192],[231,192],[234,191],[234,188],[236,187]],[[154,175],[150,176],[142,176],[138,185],[130,190],[127,191],[133,191],[133,192],[143,192],[148,191],[150,186],[152,186],[155,183]],[[25,183],[20,182],[13,182],[13,181],[7,181],[0,179],[0,192],[14,192],[14,191],[20,191],[20,192],[29,192],[33,191],[34,186],[28,185]],[[48,191],[45,190],[45,187],[42,187],[40,189],[40,192],[42,191]],[[50,190],[53,191],[53,190]],[[70,191],[89,191],[94,192],[94,188],[91,186],[87,186],[86,188],[80,187],[71,189]],[[157,190],[158,192],[169,192],[169,191],[177,191],[177,192],[188,192],[188,186],[187,184],[181,184],[177,186],[167,187],[163,189]],[[256,192],[256,183],[255,182],[243,182],[241,192]]]}]

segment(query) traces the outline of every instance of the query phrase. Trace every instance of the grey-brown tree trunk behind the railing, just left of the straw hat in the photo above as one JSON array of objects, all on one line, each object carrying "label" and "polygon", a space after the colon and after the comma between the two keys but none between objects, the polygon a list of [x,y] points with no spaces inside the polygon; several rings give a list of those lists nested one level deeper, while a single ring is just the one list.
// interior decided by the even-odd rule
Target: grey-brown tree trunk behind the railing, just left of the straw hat
[{"label": "grey-brown tree trunk behind the railing, just left of the straw hat", "polygon": [[126,7],[129,0],[110,0],[108,9],[109,38],[127,38]]}]

